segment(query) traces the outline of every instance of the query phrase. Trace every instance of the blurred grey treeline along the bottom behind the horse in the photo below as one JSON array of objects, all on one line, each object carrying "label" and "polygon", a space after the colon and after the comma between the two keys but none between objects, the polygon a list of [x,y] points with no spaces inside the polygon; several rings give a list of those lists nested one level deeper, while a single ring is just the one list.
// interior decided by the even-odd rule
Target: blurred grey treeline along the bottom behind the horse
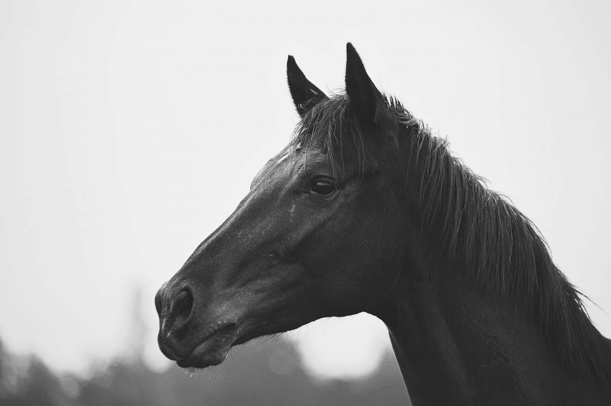
[{"label": "blurred grey treeline along the bottom behind the horse", "polygon": [[365,379],[326,382],[305,374],[287,341],[258,340],[230,354],[220,366],[191,377],[177,366],[152,371],[139,355],[79,377],[56,375],[38,358],[10,355],[0,343],[0,405],[409,405],[390,352]]}]

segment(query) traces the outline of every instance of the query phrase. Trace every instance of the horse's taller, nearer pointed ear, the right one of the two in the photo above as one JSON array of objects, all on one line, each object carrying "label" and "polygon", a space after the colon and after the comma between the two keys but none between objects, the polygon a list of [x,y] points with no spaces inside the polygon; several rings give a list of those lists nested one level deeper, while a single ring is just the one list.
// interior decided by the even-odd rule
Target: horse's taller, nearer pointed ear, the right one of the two
[{"label": "horse's taller, nearer pointed ear, the right one of the two", "polygon": [[346,94],[364,123],[373,123],[381,93],[373,84],[359,54],[351,43],[346,44]]}]

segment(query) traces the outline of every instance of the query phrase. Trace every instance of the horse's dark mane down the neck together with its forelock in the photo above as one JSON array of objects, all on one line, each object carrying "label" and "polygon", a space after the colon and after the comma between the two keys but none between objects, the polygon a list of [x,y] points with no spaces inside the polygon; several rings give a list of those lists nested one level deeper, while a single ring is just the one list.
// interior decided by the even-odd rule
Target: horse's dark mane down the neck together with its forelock
[{"label": "horse's dark mane down the neck together with its forelock", "polygon": [[[408,146],[405,184],[413,182],[409,174],[415,169],[422,173],[416,205],[423,233],[436,238],[448,258],[463,264],[482,288],[511,297],[533,317],[565,368],[611,390],[611,340],[592,324],[584,295],[555,266],[538,228],[488,189],[485,179],[453,156],[447,140],[434,137],[396,98],[383,96],[383,103],[406,130],[400,131]],[[348,96],[336,94],[302,117],[294,141],[320,144],[334,166],[347,137],[364,171],[370,131],[360,125]]]}]

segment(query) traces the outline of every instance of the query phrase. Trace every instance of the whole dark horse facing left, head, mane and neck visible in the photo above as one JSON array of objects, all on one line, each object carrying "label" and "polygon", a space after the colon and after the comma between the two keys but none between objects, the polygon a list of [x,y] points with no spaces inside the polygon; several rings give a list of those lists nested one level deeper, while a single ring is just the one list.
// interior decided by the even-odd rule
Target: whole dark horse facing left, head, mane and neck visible
[{"label": "whole dark horse facing left, head, mane and neck visible", "polygon": [[489,190],[351,43],[345,92],[292,56],[299,123],[156,294],[183,368],[329,316],[373,314],[414,405],[610,405],[611,340],[535,225]]}]

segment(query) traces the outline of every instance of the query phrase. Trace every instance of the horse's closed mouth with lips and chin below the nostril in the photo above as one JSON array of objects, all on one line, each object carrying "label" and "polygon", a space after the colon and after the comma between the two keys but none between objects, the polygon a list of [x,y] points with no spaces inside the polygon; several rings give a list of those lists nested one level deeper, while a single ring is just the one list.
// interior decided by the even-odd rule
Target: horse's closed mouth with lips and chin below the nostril
[{"label": "horse's closed mouth with lips and chin below the nostril", "polygon": [[227,353],[238,336],[238,326],[235,323],[226,324],[200,341],[186,358],[177,360],[176,363],[181,368],[218,365],[227,358]]}]

